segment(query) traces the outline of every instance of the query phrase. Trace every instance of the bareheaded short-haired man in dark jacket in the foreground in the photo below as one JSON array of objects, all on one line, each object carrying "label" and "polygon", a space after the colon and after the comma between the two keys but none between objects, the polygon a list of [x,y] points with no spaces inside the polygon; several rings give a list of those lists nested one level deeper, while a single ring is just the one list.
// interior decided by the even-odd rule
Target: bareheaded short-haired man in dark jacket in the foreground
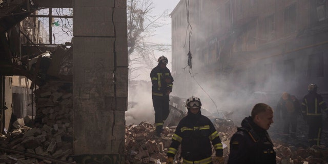
[{"label": "bareheaded short-haired man in dark jacket in the foreground", "polygon": [[256,104],[252,116],[245,117],[231,137],[228,164],[276,164],[276,152],[267,132],[272,123],[272,108],[264,103]]}]

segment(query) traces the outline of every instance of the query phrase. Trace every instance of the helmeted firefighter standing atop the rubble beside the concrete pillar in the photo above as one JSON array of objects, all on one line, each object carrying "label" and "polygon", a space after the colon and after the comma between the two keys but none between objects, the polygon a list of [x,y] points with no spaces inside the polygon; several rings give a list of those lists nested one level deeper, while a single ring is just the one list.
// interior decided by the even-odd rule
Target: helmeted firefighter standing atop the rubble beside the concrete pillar
[{"label": "helmeted firefighter standing atop the rubble beside the concrete pillar", "polygon": [[170,70],[166,67],[168,58],[160,56],[157,60],[158,65],[150,72],[152,80],[152,100],[155,110],[156,136],[160,137],[163,131],[164,121],[170,113],[169,95],[172,92],[173,77]]}]

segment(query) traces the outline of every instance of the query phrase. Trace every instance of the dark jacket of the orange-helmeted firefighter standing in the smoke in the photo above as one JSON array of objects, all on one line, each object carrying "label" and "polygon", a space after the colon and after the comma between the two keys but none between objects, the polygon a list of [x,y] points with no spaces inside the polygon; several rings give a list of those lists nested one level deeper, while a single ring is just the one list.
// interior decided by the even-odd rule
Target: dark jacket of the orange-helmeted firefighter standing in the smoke
[{"label": "dark jacket of the orange-helmeted firefighter standing in the smoke", "polygon": [[289,95],[288,99],[284,100],[280,97],[277,104],[277,118],[289,119],[290,116],[301,114],[301,105],[299,100],[294,95]]}]

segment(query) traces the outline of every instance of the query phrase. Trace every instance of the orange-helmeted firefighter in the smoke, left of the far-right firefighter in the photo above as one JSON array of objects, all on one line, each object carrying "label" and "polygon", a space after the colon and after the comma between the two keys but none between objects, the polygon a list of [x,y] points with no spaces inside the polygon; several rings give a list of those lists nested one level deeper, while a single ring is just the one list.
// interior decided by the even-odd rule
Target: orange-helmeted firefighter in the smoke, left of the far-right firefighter
[{"label": "orange-helmeted firefighter in the smoke, left of the far-right firefighter", "polygon": [[292,138],[296,138],[297,116],[301,114],[301,106],[296,96],[283,92],[277,104],[277,113],[278,119],[282,118],[284,122],[284,135],[291,134]]}]

